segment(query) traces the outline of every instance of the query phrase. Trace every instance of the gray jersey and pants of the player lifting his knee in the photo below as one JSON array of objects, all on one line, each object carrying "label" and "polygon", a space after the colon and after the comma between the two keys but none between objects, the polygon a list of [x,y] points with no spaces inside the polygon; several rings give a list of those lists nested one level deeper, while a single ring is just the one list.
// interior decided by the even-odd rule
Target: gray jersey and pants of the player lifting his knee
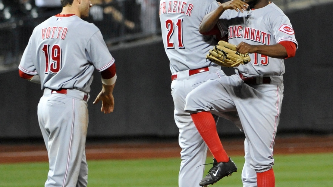
[{"label": "gray jersey and pants of the player lifting his knee", "polygon": [[[255,10],[226,10],[218,21],[222,36],[238,45],[274,45],[290,41],[297,45],[288,17],[273,3]],[[245,133],[244,187],[256,187],[256,172],[273,164],[273,145],[283,99],[283,59],[250,54],[251,62],[236,68],[235,75],[210,79],[191,91],[185,99],[186,112],[210,111],[221,115],[237,110]],[[244,83],[239,72],[255,78]],[[269,80],[263,84],[263,79]],[[253,80],[253,79],[251,79]],[[214,94],[211,94],[214,93]]]}]

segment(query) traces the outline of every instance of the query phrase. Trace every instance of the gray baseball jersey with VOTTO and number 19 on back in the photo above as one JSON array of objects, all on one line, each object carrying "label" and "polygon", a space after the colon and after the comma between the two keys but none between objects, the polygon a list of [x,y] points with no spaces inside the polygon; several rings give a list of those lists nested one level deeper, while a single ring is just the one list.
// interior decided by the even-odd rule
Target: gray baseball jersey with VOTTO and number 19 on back
[{"label": "gray baseball jersey with VOTTO and number 19 on back", "polygon": [[53,16],[34,29],[19,69],[39,74],[42,89],[89,93],[94,67],[103,71],[114,61],[94,24],[74,15]]}]

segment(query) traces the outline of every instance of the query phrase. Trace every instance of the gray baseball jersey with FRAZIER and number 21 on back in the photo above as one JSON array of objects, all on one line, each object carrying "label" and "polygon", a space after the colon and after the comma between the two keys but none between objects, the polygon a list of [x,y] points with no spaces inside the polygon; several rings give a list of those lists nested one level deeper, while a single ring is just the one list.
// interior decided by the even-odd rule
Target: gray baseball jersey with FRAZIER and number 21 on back
[{"label": "gray baseball jersey with FRAZIER and number 21 on back", "polygon": [[171,73],[217,66],[203,58],[216,41],[199,33],[202,18],[217,6],[215,0],[161,0],[162,38]]}]

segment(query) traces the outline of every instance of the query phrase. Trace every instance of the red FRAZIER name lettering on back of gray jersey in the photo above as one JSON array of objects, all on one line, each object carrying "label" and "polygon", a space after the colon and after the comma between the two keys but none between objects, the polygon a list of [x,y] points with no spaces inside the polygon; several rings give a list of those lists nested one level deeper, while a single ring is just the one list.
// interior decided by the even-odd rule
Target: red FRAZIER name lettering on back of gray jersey
[{"label": "red FRAZIER name lettering on back of gray jersey", "polygon": [[161,14],[185,14],[186,16],[191,17],[193,10],[193,4],[187,3],[184,1],[170,1],[168,5],[166,2],[160,4],[160,13]]}]

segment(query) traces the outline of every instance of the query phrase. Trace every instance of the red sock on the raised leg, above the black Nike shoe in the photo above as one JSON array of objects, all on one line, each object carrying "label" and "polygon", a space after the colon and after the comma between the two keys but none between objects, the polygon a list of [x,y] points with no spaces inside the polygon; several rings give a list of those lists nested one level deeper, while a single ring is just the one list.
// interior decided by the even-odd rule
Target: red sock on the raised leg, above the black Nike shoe
[{"label": "red sock on the raised leg, above the black Nike shoe", "polygon": [[210,152],[217,162],[228,162],[229,157],[223,149],[216,131],[216,124],[210,112],[191,114],[192,120],[202,139],[206,142]]}]

